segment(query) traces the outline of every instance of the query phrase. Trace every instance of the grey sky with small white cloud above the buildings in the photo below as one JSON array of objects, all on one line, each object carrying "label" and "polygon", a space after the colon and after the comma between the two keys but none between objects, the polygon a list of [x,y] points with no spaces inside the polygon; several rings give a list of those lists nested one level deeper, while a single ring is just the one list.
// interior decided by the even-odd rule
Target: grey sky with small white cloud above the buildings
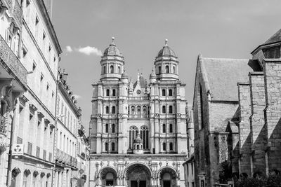
[{"label": "grey sky with small white cloud above the buildings", "polygon": [[280,29],[280,0],[54,0],[52,21],[63,54],[59,66],[89,126],[92,83],[110,43],[125,58],[126,73],[149,80],[168,39],[178,56],[179,77],[192,106],[197,56],[251,58],[251,51]]}]

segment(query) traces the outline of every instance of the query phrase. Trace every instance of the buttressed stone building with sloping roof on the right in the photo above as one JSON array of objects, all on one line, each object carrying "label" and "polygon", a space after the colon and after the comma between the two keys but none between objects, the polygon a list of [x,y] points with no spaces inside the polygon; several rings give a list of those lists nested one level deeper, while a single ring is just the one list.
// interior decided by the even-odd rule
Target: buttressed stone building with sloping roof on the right
[{"label": "buttressed stone building with sloping roof on the right", "polygon": [[256,48],[251,60],[198,57],[197,186],[280,173],[280,33]]}]

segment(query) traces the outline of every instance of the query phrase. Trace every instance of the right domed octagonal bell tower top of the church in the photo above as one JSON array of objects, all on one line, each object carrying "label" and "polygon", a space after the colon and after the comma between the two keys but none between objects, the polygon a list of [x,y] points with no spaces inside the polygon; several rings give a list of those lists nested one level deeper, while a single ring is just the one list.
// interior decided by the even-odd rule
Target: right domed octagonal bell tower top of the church
[{"label": "right domed octagonal bell tower top of the church", "polygon": [[157,79],[160,80],[178,80],[178,57],[176,53],[168,46],[168,40],[165,40],[165,46],[155,57],[155,70]]}]

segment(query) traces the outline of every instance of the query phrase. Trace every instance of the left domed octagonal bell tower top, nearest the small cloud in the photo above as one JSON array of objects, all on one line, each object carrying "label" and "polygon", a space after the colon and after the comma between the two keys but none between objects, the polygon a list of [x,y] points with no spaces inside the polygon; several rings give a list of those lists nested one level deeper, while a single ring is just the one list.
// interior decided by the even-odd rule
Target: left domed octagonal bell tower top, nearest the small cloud
[{"label": "left domed octagonal bell tower top, nearest the small cloud", "polygon": [[100,60],[101,75],[100,81],[119,81],[124,72],[124,57],[120,50],[116,47],[115,38],[112,37],[112,42],[108,48],[105,49]]}]

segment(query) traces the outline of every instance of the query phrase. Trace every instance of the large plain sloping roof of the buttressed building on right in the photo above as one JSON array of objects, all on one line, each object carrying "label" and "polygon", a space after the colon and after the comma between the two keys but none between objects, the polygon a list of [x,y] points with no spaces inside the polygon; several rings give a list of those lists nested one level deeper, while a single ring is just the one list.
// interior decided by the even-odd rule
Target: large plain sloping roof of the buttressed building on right
[{"label": "large plain sloping roof of the buttressed building on right", "polygon": [[248,82],[250,71],[261,71],[257,60],[200,57],[211,99],[238,101],[237,83]]}]

